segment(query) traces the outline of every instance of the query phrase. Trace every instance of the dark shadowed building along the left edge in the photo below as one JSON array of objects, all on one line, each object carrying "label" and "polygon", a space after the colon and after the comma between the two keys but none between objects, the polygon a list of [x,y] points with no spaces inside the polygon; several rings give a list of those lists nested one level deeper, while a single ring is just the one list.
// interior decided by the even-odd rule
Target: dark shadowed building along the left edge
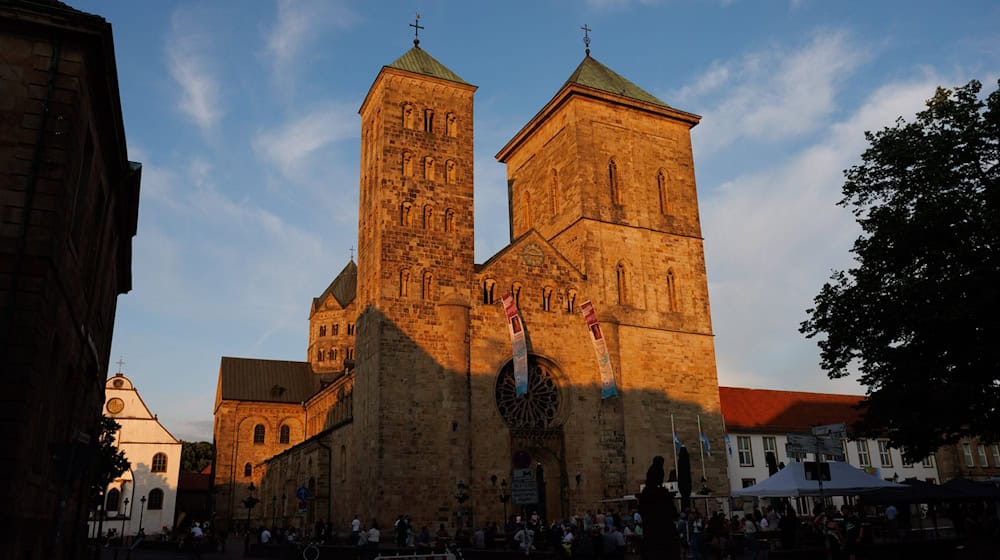
[{"label": "dark shadowed building along the left edge", "polygon": [[141,166],[104,19],[2,2],[0,53],[0,557],[77,558]]}]

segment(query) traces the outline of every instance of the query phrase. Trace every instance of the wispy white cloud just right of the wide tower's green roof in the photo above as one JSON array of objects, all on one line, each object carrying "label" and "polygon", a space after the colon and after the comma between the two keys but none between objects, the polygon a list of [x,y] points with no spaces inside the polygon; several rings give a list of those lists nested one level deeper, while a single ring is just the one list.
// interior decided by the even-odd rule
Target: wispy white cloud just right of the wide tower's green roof
[{"label": "wispy white cloud just right of the wide tower's green roof", "polygon": [[742,140],[775,142],[823,126],[840,83],[864,60],[847,33],[825,31],[801,47],[774,46],[716,61],[664,98],[703,112],[697,136],[702,155]]}]

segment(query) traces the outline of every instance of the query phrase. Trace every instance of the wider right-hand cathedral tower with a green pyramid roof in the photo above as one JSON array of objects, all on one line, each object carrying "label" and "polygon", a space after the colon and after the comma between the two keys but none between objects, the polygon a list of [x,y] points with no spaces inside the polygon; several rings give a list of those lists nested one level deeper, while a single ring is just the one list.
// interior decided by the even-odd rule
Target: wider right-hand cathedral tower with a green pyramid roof
[{"label": "wider right-hand cathedral tower with a green pyramid roof", "polygon": [[[606,493],[619,479],[635,488],[652,455],[671,453],[672,417],[693,453],[699,421],[723,429],[691,150],[699,120],[588,52],[497,154],[512,239],[535,230],[572,262],[604,328],[622,396],[602,403],[600,430],[623,434],[629,458],[604,466]],[[724,460],[701,466],[723,487]]]}]

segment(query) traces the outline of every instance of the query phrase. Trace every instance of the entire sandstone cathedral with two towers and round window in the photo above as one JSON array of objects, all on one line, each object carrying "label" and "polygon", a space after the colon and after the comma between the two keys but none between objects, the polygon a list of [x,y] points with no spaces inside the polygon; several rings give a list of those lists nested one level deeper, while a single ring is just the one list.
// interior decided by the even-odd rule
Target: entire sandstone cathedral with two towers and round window
[{"label": "entire sandstone cathedral with two towers and round window", "polygon": [[[357,263],[312,300],[308,360],[221,360],[217,523],[499,521],[515,509],[501,500],[512,462],[541,467],[530,509],[549,519],[603,509],[638,493],[655,455],[673,467],[672,423],[695,488],[728,487],[690,140],[700,117],[588,49],[497,153],[511,241],[476,263],[475,92],[418,42],[375,78],[360,108]],[[526,395],[505,294],[524,328]],[[614,397],[602,398],[585,301]],[[699,453],[699,420],[715,454]]]}]

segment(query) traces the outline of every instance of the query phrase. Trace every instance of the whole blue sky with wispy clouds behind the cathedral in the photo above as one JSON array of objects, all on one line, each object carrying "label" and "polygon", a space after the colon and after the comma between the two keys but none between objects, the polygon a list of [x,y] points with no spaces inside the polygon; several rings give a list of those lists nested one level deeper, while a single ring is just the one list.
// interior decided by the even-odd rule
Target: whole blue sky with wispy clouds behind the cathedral
[{"label": "whole blue sky with wispy clouds behind the cathedral", "polygon": [[[703,116],[695,164],[724,385],[861,394],[798,324],[858,230],[840,198],[863,133],[938,85],[1000,73],[996,2],[121,2],[129,157],[143,163],[134,289],[112,361],[175,436],[211,440],[221,356],[305,360],[312,297],[357,237],[357,110],[421,46],[475,101],[476,257],[508,242],[493,155],[593,56]],[[957,7],[956,7],[957,6]],[[114,373],[117,366],[112,364]]]}]

